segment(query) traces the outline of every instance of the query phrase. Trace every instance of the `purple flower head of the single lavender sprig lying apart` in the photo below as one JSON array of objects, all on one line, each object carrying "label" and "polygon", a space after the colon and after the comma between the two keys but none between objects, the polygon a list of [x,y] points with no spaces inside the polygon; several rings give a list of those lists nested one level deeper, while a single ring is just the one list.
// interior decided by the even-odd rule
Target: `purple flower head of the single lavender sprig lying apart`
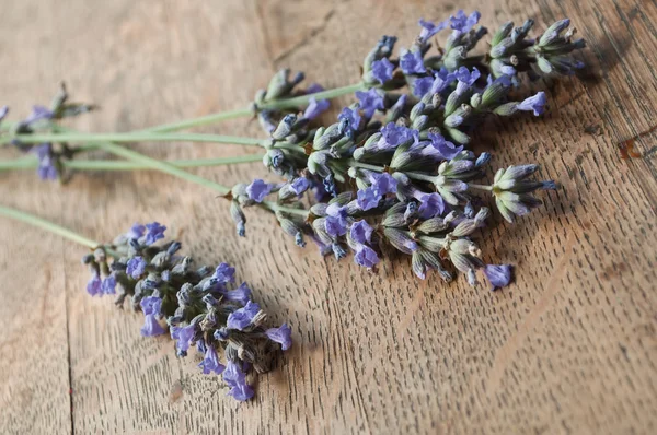
[{"label": "purple flower head of the single lavender sprig lying apart", "polygon": [[[229,395],[249,400],[254,391],[245,380],[247,371],[267,372],[276,349],[290,348],[291,329],[285,324],[266,327],[267,315],[251,301],[251,289],[246,283],[233,285],[234,268],[195,267],[192,257],[178,255],[181,243],[158,245],[165,230],[158,222],[135,224],[84,256],[91,271],[87,291],[92,296],[116,295],[118,306],[131,296],[132,308],[145,315],[142,336],[166,333],[161,322],[165,319],[178,356],[195,345],[204,355],[203,373],[222,374]],[[115,252],[113,261],[107,249]],[[226,364],[220,362],[221,350]]]}]

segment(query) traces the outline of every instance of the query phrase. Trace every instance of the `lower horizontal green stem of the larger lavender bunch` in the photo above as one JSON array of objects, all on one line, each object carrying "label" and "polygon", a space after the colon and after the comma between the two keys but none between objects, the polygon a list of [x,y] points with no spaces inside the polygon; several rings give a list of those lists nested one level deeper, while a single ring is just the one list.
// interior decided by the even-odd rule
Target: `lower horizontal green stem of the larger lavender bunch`
[{"label": "lower horizontal green stem of the larger lavender bunch", "polygon": [[[201,166],[220,166],[240,163],[260,162],[263,156],[242,155],[238,157],[227,158],[198,158],[198,160],[176,160],[170,161],[169,164],[176,167],[201,167]],[[132,171],[132,169],[150,169],[150,165],[145,165],[138,162],[122,162],[122,161],[92,161],[92,160],[73,160],[62,161],[64,167],[79,171]],[[35,157],[16,158],[13,161],[0,161],[0,171],[2,169],[33,169],[38,167],[38,161]]]}]

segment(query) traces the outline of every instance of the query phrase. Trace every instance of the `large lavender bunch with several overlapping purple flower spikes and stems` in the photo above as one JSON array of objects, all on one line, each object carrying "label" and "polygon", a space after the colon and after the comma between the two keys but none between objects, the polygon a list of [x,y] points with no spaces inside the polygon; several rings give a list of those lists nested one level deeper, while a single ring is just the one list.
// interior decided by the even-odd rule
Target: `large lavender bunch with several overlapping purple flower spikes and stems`
[{"label": "large lavender bunch with several overlapping purple flower spikes and stems", "polygon": [[[391,249],[411,256],[413,271],[423,279],[436,270],[450,281],[458,270],[476,285],[482,271],[493,287],[504,286],[511,279],[510,267],[486,264],[471,238],[485,231],[491,214],[482,195],[494,199],[499,214],[514,222],[539,207],[535,195],[555,189],[556,183],[534,179],[539,166],[533,163],[498,168],[492,183],[477,181],[485,178],[492,155],[475,155],[466,146],[491,116],[543,114],[543,92],[515,98],[521,78],[573,74],[583,63],[570,55],[585,43],[574,38],[568,20],[529,37],[533,21],[528,20],[520,27],[504,24],[486,52],[476,54],[477,43],[487,34],[479,20],[479,12],[463,11],[440,23],[420,20],[418,36],[397,57],[396,38],[383,36],[367,54],[359,82],[341,89],[300,90],[303,74],[283,70],[256,94],[249,110],[107,136],[58,133],[55,120],[90,108],[69,104],[65,96],[56,98],[49,110],[35,109],[3,141],[27,149],[30,142],[49,141],[32,148],[38,154],[39,174],[47,178],[56,178],[64,168],[59,162],[74,155],[67,141],[230,138],[258,145],[265,166],[284,183],[257,178],[228,188],[116,143],[97,148],[222,193],[231,201],[240,236],[245,235],[243,209],[257,205],[274,213],[297,245],[312,239],[322,254],[338,259],[351,251],[355,261],[369,270],[376,270],[380,256]],[[447,42],[431,52],[431,38],[446,28],[451,28]],[[314,127],[328,108],[327,98],[347,91],[355,92],[357,103],[343,108],[336,122]],[[247,114],[257,116],[269,139],[171,133]],[[39,133],[39,128],[53,132]],[[60,150],[54,152],[51,143],[59,143]],[[315,193],[312,205],[302,200],[309,191]],[[275,198],[266,200],[270,196]]]}]

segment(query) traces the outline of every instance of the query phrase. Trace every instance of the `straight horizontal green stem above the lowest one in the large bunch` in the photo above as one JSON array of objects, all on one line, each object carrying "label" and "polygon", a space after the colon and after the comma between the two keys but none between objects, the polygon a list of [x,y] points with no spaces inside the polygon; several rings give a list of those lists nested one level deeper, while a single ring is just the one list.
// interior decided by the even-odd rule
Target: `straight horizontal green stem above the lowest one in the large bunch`
[{"label": "straight horizontal green stem above the lowest one in the large bunch", "polygon": [[262,140],[253,138],[241,138],[237,136],[221,134],[199,134],[199,133],[36,133],[36,134],[14,134],[0,138],[0,144],[8,144],[12,140],[21,143],[44,143],[44,142],[165,142],[165,141],[185,141],[185,142],[212,142],[230,143],[237,145],[261,146]]}]

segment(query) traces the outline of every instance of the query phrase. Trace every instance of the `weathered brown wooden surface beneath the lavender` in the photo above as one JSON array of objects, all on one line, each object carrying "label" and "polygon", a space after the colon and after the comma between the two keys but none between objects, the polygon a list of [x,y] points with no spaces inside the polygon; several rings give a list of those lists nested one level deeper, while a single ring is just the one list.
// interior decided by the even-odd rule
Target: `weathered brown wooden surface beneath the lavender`
[{"label": "weathered brown wooden surface beneath the lavender", "polygon": [[[2,1],[1,103],[13,117],[66,80],[103,110],[90,131],[127,131],[239,107],[290,66],[325,86],[353,82],[381,34],[401,45],[419,17],[474,1]],[[655,1],[494,0],[483,24],[569,16],[589,43],[584,81],[549,83],[550,113],[495,121],[477,148],[494,165],[537,162],[563,189],[517,225],[481,240],[517,264],[499,292],[463,278],[378,275],[300,250],[251,212],[238,239],[227,204],[166,175],[80,174],[65,187],[0,174],[1,202],[108,240],[159,220],[207,263],[229,261],[293,348],[256,381],[255,400],[224,396],[168,338],[142,339],[141,316],[84,292],[84,249],[0,221],[0,433],[301,434],[657,432],[657,7]],[[545,85],[540,83],[538,85]],[[348,99],[343,99],[342,104]],[[337,106],[337,105],[336,105]],[[327,118],[330,119],[330,118]],[[207,131],[261,134],[238,120]],[[145,144],[157,156],[247,152]],[[3,151],[0,157],[15,156]],[[636,155],[639,155],[636,157]],[[629,157],[629,158],[624,158]],[[258,164],[205,168],[231,185]]]}]

